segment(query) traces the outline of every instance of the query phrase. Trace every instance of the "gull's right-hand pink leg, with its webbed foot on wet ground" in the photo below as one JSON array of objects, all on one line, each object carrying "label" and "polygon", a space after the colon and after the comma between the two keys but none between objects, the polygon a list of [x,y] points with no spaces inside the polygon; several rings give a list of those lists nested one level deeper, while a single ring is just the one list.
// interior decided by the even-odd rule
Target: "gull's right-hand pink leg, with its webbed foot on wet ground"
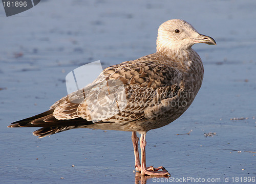
[{"label": "gull's right-hand pink leg, with its webbed foot on wet ground", "polygon": [[[142,133],[140,136],[140,150],[141,150],[141,167],[140,172],[142,175],[151,175],[151,176],[165,176],[170,175],[164,167],[154,168],[150,166],[146,168],[146,133]],[[162,171],[158,171],[158,170]]]}]

